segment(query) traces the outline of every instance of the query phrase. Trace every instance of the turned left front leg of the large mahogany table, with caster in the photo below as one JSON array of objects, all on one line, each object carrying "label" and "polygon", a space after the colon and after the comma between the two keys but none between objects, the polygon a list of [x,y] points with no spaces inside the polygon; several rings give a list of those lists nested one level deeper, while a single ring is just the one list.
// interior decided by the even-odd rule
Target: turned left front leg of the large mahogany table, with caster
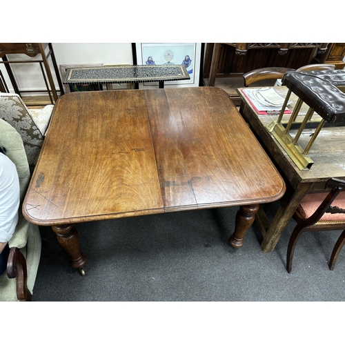
[{"label": "turned left front leg of the large mahogany table, with caster", "polygon": [[57,234],[57,241],[61,247],[70,255],[71,266],[73,268],[79,268],[83,275],[83,266],[86,264],[86,256],[81,253],[79,235],[73,224],[52,226],[52,230]]}]

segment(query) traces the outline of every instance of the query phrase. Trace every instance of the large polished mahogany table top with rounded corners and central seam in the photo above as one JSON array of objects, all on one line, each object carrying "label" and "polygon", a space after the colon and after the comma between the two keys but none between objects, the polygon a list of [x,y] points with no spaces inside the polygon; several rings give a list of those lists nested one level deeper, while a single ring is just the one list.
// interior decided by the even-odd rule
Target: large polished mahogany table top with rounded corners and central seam
[{"label": "large polished mahogany table top with rounded corners and central seam", "polygon": [[72,92],[55,106],[23,215],[59,225],[261,204],[284,192],[219,88]]}]

